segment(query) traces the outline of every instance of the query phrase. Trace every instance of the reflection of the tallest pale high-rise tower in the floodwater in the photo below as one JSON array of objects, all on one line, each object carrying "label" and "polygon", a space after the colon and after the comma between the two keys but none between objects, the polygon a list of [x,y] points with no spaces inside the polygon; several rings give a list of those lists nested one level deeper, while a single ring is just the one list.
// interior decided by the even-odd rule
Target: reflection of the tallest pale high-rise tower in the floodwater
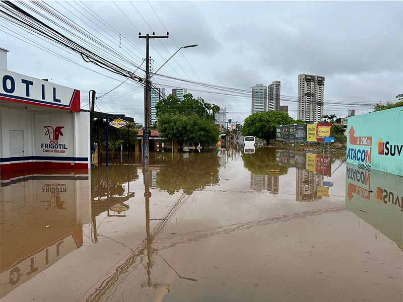
[{"label": "reflection of the tallest pale high-rise tower in the floodwater", "polygon": [[295,200],[296,201],[313,201],[317,198],[318,187],[322,186],[322,177],[311,171],[297,169]]}]

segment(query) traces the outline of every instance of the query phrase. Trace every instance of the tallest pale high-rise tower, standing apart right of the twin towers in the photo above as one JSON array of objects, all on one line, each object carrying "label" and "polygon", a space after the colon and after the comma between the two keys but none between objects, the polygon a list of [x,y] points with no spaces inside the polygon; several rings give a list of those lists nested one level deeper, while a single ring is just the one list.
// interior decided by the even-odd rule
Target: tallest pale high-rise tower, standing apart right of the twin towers
[{"label": "tallest pale high-rise tower, standing apart right of the twin towers", "polygon": [[324,77],[298,74],[298,119],[320,122],[324,105]]}]

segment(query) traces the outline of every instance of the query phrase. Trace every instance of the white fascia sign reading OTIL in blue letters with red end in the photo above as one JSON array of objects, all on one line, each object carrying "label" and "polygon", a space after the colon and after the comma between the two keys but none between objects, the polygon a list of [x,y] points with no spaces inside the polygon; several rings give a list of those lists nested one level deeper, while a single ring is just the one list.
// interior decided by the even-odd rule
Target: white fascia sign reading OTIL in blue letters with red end
[{"label": "white fascia sign reading OTIL in blue letters with red end", "polygon": [[80,112],[80,91],[0,69],[0,100]]}]

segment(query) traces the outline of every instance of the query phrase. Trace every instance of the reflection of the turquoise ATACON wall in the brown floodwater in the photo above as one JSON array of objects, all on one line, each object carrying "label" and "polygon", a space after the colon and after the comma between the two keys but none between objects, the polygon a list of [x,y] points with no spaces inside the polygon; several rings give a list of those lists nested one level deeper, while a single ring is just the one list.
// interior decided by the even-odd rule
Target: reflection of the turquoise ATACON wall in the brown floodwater
[{"label": "reflection of the turquoise ATACON wall in the brown floodwater", "polygon": [[347,164],[346,207],[403,250],[403,178]]}]

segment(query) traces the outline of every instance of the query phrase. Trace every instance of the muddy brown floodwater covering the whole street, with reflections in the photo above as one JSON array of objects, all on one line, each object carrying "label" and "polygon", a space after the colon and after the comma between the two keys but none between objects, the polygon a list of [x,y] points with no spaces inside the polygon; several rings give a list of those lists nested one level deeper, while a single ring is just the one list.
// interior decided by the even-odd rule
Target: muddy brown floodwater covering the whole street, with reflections
[{"label": "muddy brown floodwater covering the whole street, with reflections", "polygon": [[285,149],[2,180],[0,301],[402,301],[403,180]]}]

